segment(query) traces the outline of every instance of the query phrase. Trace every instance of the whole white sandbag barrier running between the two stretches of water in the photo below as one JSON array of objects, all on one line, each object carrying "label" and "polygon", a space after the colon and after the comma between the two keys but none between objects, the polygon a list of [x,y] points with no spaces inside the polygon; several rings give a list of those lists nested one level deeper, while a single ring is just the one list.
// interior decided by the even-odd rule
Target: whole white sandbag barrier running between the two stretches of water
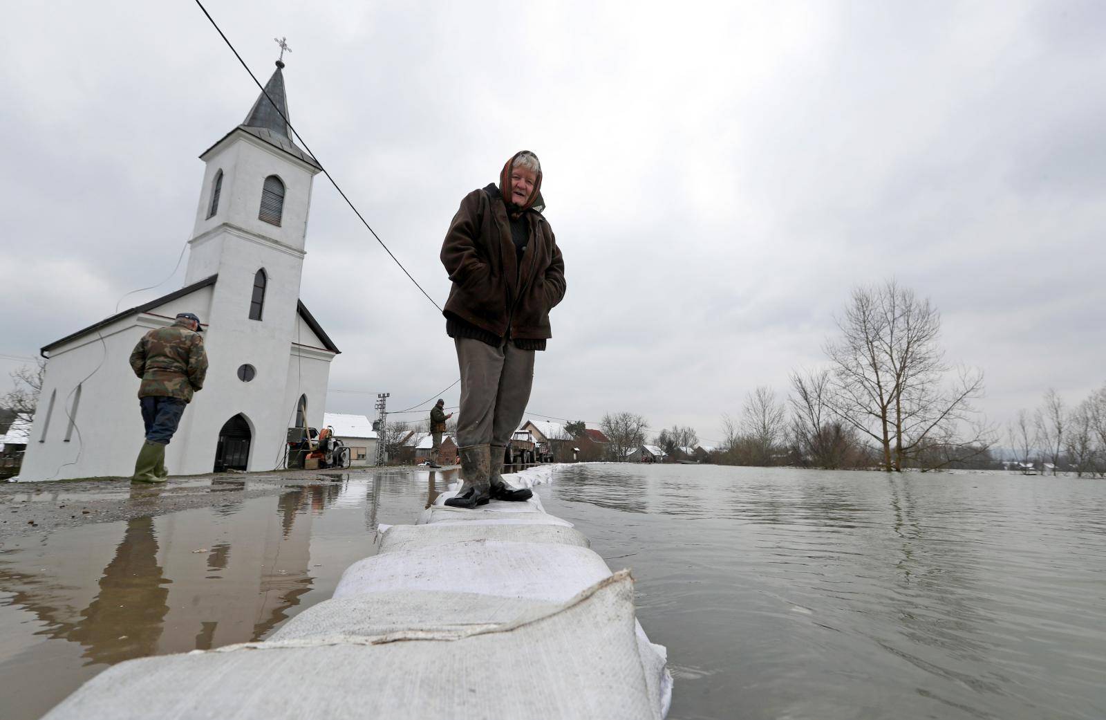
[{"label": "whole white sandbag barrier running between the two stretches of water", "polygon": [[456,490],[382,529],[377,555],[269,640],[122,662],[45,718],[664,718],[671,676],[629,573],[536,495],[442,505]]}]

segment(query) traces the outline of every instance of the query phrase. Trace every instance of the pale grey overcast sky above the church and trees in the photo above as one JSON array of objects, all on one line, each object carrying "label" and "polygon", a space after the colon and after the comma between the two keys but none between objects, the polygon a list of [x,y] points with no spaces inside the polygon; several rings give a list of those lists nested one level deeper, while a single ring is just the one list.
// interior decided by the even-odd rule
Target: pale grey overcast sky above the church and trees
[{"label": "pale grey overcast sky above the church and trees", "polygon": [[[890,278],[940,309],[997,422],[1106,380],[1106,3],[207,6],[262,82],[288,36],[293,124],[439,304],[461,197],[540,156],[568,290],[534,413],[718,440]],[[4,23],[0,355],[33,357],[169,274],[197,156],[258,91],[191,0]],[[303,301],[343,351],[328,410],[457,379],[444,319],[323,176],[306,248]]]}]

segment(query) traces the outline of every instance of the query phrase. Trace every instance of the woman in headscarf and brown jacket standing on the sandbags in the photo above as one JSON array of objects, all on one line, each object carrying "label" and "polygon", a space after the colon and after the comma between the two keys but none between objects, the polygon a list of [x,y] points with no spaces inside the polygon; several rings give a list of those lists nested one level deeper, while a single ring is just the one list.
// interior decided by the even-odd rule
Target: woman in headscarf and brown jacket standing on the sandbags
[{"label": "woman in headscarf and brown jacket standing on the sandbags", "polygon": [[446,501],[453,508],[532,494],[510,488],[501,470],[530,399],[534,352],[552,337],[549,313],[565,291],[541,186],[538,156],[517,153],[498,187],[465,196],[441,244],[441,264],[453,283],[442,314],[461,369],[457,445],[465,484]]}]

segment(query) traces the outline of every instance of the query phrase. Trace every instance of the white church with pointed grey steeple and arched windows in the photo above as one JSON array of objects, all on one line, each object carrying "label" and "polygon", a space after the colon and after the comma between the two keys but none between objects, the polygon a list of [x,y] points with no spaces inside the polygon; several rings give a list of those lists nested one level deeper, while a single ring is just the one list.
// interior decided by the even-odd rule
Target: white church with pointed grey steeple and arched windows
[{"label": "white church with pointed grey steeple and arched windows", "polygon": [[[284,63],[265,92],[288,118]],[[208,148],[185,286],[50,343],[20,480],[134,472],[144,429],[128,357],[150,328],[192,312],[208,369],[173,441],[171,474],[272,470],[288,430],[321,427],[338,354],[300,302],[311,186],[321,167],[264,94]]]}]

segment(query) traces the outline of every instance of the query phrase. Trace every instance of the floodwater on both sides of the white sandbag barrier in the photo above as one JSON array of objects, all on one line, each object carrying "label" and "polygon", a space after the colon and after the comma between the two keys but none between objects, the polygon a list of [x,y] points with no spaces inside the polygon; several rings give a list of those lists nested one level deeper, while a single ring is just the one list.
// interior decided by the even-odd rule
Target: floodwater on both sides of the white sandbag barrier
[{"label": "floodwater on both sides of the white sandbag barrier", "polygon": [[[453,477],[336,474],[7,542],[0,717],[132,657],[269,636]],[[1106,482],[585,465],[539,493],[633,568],[676,720],[1106,718]]]}]

